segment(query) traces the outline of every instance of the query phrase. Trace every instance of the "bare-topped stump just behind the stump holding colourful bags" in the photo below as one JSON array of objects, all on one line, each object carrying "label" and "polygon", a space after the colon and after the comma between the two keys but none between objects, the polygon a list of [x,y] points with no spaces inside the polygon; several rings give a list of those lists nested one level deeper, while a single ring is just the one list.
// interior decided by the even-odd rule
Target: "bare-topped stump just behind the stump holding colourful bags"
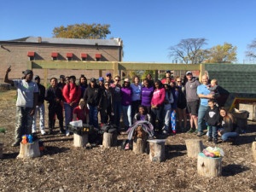
[{"label": "bare-topped stump just behind the stump holding colourful bags", "polygon": [[185,143],[188,157],[197,158],[197,155],[203,150],[203,144],[200,139],[187,139]]}]

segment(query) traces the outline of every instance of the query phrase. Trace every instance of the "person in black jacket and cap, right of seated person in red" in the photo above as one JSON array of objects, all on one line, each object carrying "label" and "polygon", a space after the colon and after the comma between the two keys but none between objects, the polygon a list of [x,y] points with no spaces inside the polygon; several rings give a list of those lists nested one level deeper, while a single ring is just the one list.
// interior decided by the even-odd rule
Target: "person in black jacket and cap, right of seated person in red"
[{"label": "person in black jacket and cap, right of seated person in red", "polygon": [[89,109],[89,125],[98,128],[98,109],[101,98],[101,89],[96,84],[96,79],[91,78],[88,88],[84,92],[84,102]]}]

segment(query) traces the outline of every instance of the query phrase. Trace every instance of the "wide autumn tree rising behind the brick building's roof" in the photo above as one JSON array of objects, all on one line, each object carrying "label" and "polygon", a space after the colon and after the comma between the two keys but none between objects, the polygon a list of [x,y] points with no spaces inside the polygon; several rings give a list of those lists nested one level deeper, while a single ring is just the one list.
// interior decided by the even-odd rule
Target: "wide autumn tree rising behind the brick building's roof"
[{"label": "wide autumn tree rising behind the brick building's roof", "polygon": [[68,26],[55,27],[53,30],[54,38],[89,38],[104,39],[111,32],[110,25],[101,24],[74,24]]}]

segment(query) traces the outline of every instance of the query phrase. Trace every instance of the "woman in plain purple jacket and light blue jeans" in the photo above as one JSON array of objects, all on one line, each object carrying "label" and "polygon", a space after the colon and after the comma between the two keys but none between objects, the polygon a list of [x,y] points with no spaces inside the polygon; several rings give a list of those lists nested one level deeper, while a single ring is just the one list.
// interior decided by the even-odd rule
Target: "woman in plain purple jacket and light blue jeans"
[{"label": "woman in plain purple jacket and light blue jeans", "polygon": [[122,108],[123,108],[123,120],[125,124],[125,130],[132,125],[131,120],[131,95],[132,90],[129,79],[124,80],[123,87],[121,88],[122,94]]}]

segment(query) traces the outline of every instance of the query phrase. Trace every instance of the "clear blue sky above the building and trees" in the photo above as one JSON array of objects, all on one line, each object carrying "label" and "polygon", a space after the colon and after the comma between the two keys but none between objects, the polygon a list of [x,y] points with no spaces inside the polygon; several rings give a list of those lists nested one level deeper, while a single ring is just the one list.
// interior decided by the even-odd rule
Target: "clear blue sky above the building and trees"
[{"label": "clear blue sky above the building and trees", "polygon": [[23,0],[0,3],[0,40],[52,37],[55,26],[109,24],[124,42],[124,61],[172,62],[168,48],[207,38],[205,49],[237,46],[238,63],[256,38],[255,0]]}]

